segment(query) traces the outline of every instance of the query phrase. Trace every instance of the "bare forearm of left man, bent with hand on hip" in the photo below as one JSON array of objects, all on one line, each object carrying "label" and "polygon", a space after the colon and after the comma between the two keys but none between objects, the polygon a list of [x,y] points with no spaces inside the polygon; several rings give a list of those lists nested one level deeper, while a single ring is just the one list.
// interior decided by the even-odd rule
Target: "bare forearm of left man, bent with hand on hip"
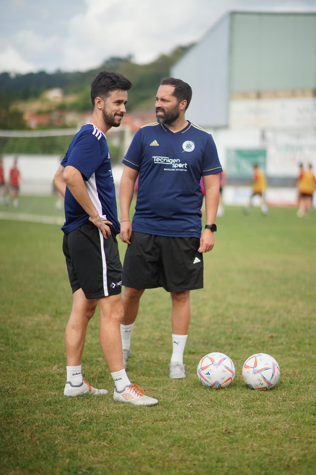
[{"label": "bare forearm of left man, bent with hand on hip", "polygon": [[69,191],[73,195],[74,199],[82,206],[84,211],[93,219],[99,216],[99,213],[95,209],[93,202],[91,201],[87,189],[84,184],[84,179],[80,171],[76,170],[74,167],[71,167],[73,170],[64,171],[64,180]]}]

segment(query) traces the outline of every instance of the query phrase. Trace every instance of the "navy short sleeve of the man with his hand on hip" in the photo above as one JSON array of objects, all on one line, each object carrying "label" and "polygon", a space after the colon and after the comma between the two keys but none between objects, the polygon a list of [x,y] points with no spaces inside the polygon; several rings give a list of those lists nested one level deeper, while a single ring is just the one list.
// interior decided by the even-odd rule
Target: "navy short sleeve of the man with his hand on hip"
[{"label": "navy short sleeve of the man with his hand on hip", "polygon": [[101,164],[102,156],[99,140],[92,133],[83,133],[74,144],[66,165],[71,165],[81,171],[84,180],[89,180]]}]

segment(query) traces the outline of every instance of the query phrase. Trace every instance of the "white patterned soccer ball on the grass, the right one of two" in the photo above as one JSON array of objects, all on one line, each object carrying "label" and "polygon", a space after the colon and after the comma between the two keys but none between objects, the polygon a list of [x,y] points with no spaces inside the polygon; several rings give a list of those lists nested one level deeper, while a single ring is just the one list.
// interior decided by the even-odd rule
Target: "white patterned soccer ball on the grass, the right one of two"
[{"label": "white patterned soccer ball on the grass, the right one of two", "polygon": [[255,353],[242,365],[242,378],[251,389],[271,389],[277,384],[279,377],[277,361],[266,353]]}]

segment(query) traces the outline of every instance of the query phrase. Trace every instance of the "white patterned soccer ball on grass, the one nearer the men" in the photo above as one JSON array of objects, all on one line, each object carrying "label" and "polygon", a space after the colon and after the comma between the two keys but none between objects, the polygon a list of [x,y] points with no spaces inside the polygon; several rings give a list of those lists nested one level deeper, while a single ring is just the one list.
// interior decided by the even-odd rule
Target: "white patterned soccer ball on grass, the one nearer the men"
[{"label": "white patterned soccer ball on grass, the one nearer the men", "polygon": [[224,353],[208,353],[197,365],[197,377],[206,388],[226,388],[235,377],[235,366]]}]

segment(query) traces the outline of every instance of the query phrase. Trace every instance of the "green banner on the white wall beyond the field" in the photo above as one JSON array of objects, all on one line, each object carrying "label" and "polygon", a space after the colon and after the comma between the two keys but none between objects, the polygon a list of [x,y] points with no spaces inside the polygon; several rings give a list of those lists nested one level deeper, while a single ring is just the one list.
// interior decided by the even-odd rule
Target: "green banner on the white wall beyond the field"
[{"label": "green banner on the white wall beyond the field", "polygon": [[251,178],[255,163],[261,170],[266,171],[266,149],[226,149],[225,171],[229,177]]}]

